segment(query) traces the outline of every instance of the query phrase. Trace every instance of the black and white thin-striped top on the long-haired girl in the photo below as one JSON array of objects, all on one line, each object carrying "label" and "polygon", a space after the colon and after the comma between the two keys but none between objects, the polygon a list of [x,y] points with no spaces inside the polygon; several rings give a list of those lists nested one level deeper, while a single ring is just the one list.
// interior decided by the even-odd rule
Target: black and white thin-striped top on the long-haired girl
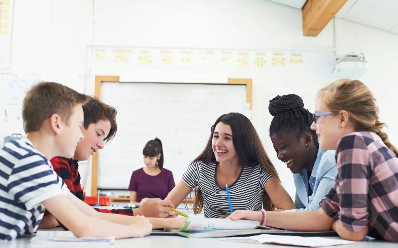
[{"label": "black and white thin-striped top on the long-haired girl", "polygon": [[[225,188],[216,183],[217,162],[195,161],[185,171],[182,180],[190,187],[199,187],[203,193],[203,211],[206,218],[229,215],[230,208]],[[262,209],[265,183],[271,178],[260,165],[244,166],[238,179],[228,186],[232,210]]]}]

